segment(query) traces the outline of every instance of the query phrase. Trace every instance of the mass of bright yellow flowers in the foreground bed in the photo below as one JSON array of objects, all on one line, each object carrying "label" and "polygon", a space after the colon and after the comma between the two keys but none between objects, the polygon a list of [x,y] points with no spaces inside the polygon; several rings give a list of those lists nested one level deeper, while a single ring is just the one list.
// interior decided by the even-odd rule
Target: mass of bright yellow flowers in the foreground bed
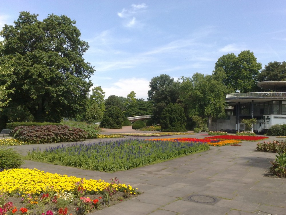
[{"label": "mass of bright yellow flowers in the foreground bed", "polygon": [[[0,172],[0,194],[1,193],[21,193],[40,194],[49,191],[61,193],[63,191],[74,191],[78,185],[86,191],[102,191],[110,183],[104,180],[94,180],[78,178],[75,176],[52,174],[38,169],[9,169]],[[130,185],[116,184],[112,186],[121,189],[126,188],[132,193],[136,193]]]}]

